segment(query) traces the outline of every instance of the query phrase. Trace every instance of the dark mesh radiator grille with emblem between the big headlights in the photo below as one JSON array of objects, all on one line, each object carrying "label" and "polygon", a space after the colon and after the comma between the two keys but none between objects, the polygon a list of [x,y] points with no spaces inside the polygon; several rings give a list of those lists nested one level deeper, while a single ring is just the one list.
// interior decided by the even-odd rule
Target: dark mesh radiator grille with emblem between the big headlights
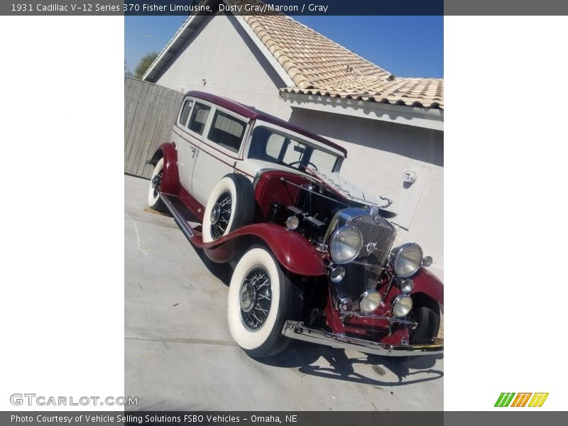
[{"label": "dark mesh radiator grille with emblem between the big headlights", "polygon": [[396,230],[383,217],[373,215],[356,216],[349,224],[361,231],[363,246],[354,262],[342,265],[345,268],[345,278],[340,283],[332,283],[332,293],[336,301],[342,295],[349,296],[353,302],[352,309],[359,310],[359,296],[365,290],[373,290],[376,287],[381,271],[357,262],[384,266]]}]

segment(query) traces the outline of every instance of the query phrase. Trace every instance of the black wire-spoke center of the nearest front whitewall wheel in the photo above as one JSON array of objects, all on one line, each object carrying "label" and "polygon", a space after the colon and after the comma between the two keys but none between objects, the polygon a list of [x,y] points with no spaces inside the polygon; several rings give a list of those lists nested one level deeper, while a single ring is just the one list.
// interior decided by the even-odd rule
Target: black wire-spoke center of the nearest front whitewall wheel
[{"label": "black wire-spoke center of the nearest front whitewall wheel", "polygon": [[241,285],[239,307],[244,326],[256,331],[260,329],[271,310],[272,285],[268,273],[260,267],[253,268]]}]

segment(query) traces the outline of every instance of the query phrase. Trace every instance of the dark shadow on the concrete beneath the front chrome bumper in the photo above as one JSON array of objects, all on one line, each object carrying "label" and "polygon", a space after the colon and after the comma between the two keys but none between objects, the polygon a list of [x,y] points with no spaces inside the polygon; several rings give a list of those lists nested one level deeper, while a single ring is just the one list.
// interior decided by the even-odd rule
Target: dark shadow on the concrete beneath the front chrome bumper
[{"label": "dark shadow on the concrete beneath the front chrome bumper", "polygon": [[[318,365],[320,357],[327,361],[329,366]],[[269,366],[297,368],[300,373],[310,376],[334,378],[378,387],[392,387],[442,378],[444,372],[432,368],[437,359],[442,359],[442,355],[399,359],[397,357],[361,354],[358,358],[349,358],[343,349],[333,349],[307,342],[293,342],[283,353],[265,359],[257,359],[257,361]],[[372,373],[365,376],[359,371],[355,371],[357,364],[371,366]],[[391,371],[398,380],[388,380],[388,376],[391,375],[388,374],[387,370]],[[418,376],[420,378],[414,378]]]}]

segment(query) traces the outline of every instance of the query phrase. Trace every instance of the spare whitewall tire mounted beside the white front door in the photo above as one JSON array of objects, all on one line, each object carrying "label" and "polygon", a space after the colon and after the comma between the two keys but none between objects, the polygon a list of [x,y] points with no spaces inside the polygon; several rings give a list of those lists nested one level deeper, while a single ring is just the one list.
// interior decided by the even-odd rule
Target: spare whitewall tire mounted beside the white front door
[{"label": "spare whitewall tire mounted beside the white front door", "polygon": [[203,214],[202,239],[210,243],[229,232],[251,224],[254,217],[254,190],[250,180],[231,173],[217,182]]}]

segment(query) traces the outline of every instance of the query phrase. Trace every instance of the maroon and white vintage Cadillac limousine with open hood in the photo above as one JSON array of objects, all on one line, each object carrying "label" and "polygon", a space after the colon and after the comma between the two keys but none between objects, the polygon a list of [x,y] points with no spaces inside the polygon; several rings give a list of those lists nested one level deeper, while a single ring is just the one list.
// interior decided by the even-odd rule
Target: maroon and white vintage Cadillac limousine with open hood
[{"label": "maroon and white vintage Cadillac limousine with open hood", "polygon": [[253,107],[183,99],[149,164],[148,204],[233,266],[229,329],[253,357],[300,339],[368,354],[439,354],[443,285],[415,243],[393,247],[390,200],[339,175],[347,152]]}]

